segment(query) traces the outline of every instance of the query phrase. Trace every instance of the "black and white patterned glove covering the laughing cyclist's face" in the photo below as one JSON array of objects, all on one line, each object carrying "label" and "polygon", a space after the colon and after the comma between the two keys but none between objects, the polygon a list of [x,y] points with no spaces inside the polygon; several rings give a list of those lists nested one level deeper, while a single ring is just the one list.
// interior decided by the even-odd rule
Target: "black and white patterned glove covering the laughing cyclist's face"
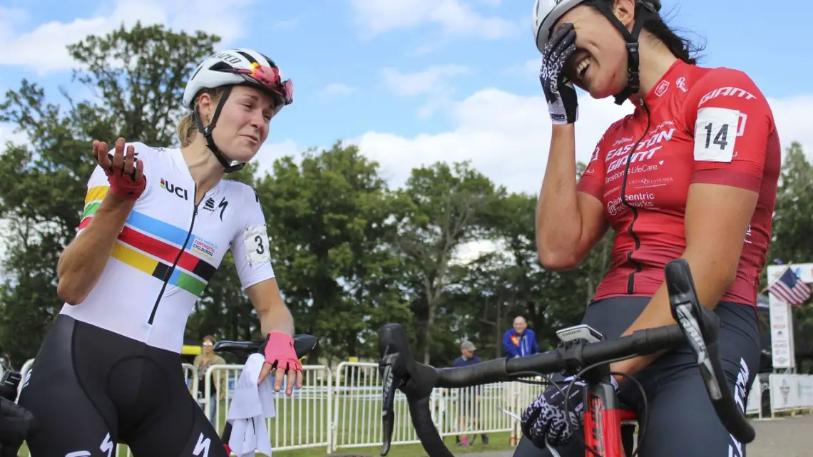
[{"label": "black and white patterned glove covering the laughing cyclist's face", "polygon": [[548,102],[550,120],[554,124],[573,124],[579,118],[576,89],[564,74],[567,59],[576,52],[576,30],[573,24],[563,24],[550,37],[542,51],[539,82]]}]

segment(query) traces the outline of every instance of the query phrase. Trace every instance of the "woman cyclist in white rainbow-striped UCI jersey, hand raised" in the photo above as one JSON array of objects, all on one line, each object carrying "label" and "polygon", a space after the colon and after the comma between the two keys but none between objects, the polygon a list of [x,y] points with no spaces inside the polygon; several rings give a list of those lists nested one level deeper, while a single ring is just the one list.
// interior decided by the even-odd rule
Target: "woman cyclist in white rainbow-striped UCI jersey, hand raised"
[{"label": "woman cyclist in white rainbow-striped UCI jersey, hand raised", "polygon": [[261,379],[276,368],[276,391],[286,374],[286,394],[302,386],[259,198],[223,179],[254,158],[291,102],[293,84],[271,59],[224,50],[187,83],[180,148],[119,138],[108,155],[94,141],[98,167],[57,268],[65,304],[20,397],[37,418],[33,457],[111,457],[115,443],[137,456],[226,455],[179,355],[187,317],[229,249],[266,335]]}]

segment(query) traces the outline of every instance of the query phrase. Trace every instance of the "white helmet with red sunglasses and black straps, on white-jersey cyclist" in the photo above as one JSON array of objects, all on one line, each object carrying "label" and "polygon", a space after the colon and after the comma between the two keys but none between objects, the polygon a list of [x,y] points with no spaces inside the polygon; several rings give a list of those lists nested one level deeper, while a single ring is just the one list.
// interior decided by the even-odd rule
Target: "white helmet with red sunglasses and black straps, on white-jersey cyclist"
[{"label": "white helmet with red sunglasses and black straps, on white-jersey cyclist", "polygon": [[[270,95],[276,102],[276,112],[293,103],[293,83],[283,80],[280,68],[267,55],[255,50],[237,48],[221,50],[204,60],[186,83],[184,89],[184,107],[192,110],[198,124],[198,130],[206,138],[207,146],[223,164],[227,173],[237,172],[246,166],[245,163],[229,163],[220,149],[215,146],[211,131],[215,128],[220,111],[231,94],[234,85],[250,85]],[[215,109],[209,125],[204,126],[195,100],[204,89],[224,87],[223,96]]]}]

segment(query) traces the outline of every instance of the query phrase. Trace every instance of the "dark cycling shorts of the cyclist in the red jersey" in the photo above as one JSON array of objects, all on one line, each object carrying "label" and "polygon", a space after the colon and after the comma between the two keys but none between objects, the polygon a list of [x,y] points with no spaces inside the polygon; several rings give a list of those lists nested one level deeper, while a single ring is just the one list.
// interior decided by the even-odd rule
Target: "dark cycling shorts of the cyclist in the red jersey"
[{"label": "dark cycling shorts of the cyclist in the red jersey", "polygon": [[[593,302],[585,312],[583,324],[603,333],[619,337],[646,307],[649,298],[618,297]],[[720,302],[715,307],[720,317],[720,358],[735,398],[746,405],[747,390],[759,369],[759,331],[754,307],[733,302]],[[746,391],[736,388],[737,376],[747,379]],[[724,429],[711,406],[703,385],[696,356],[688,344],[655,360],[638,372],[647,399],[649,420],[646,437],[638,453],[640,457],[745,457],[745,445],[736,442]],[[759,394],[756,393],[756,394]],[[633,382],[624,382],[620,392],[622,402],[637,409],[643,417],[641,392]],[[640,435],[638,437],[640,439]],[[557,448],[561,457],[584,457],[585,448],[579,437],[567,446]],[[523,437],[514,457],[550,457]]]}]

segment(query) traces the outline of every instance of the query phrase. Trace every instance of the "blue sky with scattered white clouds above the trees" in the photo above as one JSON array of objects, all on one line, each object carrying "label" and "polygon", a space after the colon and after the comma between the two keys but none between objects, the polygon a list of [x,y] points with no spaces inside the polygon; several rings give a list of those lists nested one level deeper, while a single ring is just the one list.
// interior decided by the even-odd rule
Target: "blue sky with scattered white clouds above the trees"
[{"label": "blue sky with scattered white clouds above the trees", "polygon": [[[70,85],[64,46],[121,20],[200,28],[262,50],[296,86],[272,121],[264,167],[309,146],[353,141],[398,185],[413,166],[471,159],[511,189],[536,192],[550,121],[536,78],[533,0],[0,0],[0,90],[21,78],[52,100]],[[747,72],[771,99],[783,143],[813,151],[810,2],[664,0],[671,24],[706,43],[706,66]],[[793,62],[791,64],[791,62]],[[582,94],[577,152],[631,108]],[[11,137],[0,126],[0,140]],[[19,137],[15,137],[19,140]]]}]

